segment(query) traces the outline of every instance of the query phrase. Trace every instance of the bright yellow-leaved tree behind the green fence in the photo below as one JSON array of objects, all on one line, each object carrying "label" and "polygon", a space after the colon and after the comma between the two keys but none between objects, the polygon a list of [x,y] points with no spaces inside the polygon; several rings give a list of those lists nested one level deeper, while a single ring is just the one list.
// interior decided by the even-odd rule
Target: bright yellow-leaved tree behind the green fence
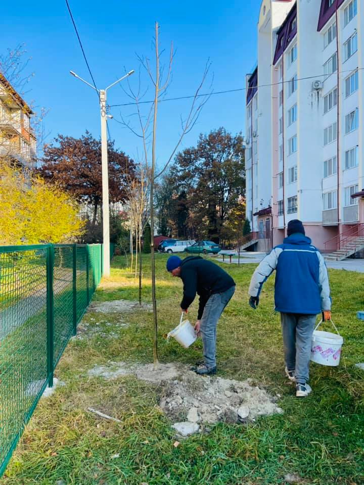
[{"label": "bright yellow-leaved tree behind the green fence", "polygon": [[82,234],[77,204],[62,190],[0,163],[0,245],[67,243]]}]

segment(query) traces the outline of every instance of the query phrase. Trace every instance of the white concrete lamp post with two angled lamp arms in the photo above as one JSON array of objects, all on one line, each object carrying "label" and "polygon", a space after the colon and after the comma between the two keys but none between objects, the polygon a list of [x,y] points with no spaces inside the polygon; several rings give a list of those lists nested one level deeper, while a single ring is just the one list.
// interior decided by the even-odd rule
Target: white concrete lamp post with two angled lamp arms
[{"label": "white concrete lamp post with two angled lamp arms", "polygon": [[109,216],[109,171],[108,171],[108,152],[107,152],[107,118],[112,116],[106,113],[107,91],[112,86],[133,74],[129,71],[125,76],[113,82],[106,89],[97,89],[95,86],[79,77],[75,72],[70,71],[72,76],[83,81],[87,86],[92,87],[99,95],[100,114],[101,114],[101,166],[102,166],[102,200],[103,200],[103,244],[104,244],[104,276],[110,276],[110,216]]}]

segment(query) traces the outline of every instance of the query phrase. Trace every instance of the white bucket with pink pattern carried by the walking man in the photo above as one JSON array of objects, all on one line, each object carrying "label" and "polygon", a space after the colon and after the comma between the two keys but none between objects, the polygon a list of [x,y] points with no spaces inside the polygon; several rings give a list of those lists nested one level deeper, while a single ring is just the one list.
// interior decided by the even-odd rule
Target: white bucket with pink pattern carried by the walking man
[{"label": "white bucket with pink pattern carried by the walking man", "polygon": [[[331,321],[331,320],[330,320]],[[337,333],[317,330],[322,324],[316,326],[312,334],[311,361],[316,364],[336,366],[340,362],[341,347],[344,343],[343,337],[339,334],[335,324],[331,321]]]}]

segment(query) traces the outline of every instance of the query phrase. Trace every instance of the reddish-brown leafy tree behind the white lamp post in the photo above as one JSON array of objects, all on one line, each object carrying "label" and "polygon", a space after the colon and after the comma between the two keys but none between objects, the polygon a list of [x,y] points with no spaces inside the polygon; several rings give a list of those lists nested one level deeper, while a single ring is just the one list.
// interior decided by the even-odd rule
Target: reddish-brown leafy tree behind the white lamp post
[{"label": "reddish-brown leafy tree behind the white lamp post", "polygon": [[[135,171],[134,162],[108,142],[110,202],[126,200],[127,175]],[[102,205],[101,141],[86,131],[81,138],[58,135],[44,147],[38,174],[70,193],[78,202],[92,207],[95,226]]]}]

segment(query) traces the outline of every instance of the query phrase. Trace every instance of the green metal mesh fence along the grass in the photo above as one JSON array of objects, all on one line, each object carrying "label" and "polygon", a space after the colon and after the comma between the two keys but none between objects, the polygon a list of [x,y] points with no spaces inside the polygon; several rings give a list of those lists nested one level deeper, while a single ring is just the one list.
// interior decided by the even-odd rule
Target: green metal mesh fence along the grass
[{"label": "green metal mesh fence along the grass", "polygon": [[[110,247],[110,256],[114,245]],[[102,275],[101,244],[0,247],[0,476]]]}]

